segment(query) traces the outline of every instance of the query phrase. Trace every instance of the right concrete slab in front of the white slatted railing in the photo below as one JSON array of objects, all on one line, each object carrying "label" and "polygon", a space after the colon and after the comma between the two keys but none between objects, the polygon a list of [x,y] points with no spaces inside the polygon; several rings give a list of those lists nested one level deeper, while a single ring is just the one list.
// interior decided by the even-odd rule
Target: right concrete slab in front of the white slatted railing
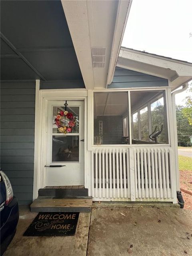
[{"label": "right concrete slab in front of the white slatted railing", "polygon": [[129,254],[192,256],[192,211],[165,207],[93,208],[87,255]]}]

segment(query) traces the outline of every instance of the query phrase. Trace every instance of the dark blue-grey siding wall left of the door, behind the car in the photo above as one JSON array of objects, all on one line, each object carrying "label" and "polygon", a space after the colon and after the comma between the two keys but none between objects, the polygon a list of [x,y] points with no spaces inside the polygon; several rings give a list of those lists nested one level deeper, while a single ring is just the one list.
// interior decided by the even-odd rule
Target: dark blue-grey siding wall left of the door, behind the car
[{"label": "dark blue-grey siding wall left of the door, behind the car", "polygon": [[33,196],[35,82],[1,83],[1,168],[19,204]]}]

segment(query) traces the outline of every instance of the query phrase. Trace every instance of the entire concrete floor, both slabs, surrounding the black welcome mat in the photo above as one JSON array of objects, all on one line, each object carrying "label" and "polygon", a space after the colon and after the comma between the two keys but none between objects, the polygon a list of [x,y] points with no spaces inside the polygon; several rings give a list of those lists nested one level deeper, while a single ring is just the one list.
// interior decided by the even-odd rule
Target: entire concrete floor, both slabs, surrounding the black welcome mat
[{"label": "entire concrete floor, both slabs, surrounding the black welcome mat", "polygon": [[96,203],[91,213],[80,213],[75,236],[22,236],[36,214],[20,207],[4,256],[192,256],[191,210]]}]

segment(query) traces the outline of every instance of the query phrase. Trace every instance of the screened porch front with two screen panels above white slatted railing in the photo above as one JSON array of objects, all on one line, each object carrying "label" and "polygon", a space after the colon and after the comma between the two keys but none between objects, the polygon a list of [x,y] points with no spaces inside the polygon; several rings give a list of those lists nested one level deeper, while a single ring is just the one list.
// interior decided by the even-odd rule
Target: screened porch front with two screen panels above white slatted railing
[{"label": "screened porch front with two screen panels above white slatted railing", "polygon": [[175,200],[167,94],[167,89],[94,92],[94,200]]}]

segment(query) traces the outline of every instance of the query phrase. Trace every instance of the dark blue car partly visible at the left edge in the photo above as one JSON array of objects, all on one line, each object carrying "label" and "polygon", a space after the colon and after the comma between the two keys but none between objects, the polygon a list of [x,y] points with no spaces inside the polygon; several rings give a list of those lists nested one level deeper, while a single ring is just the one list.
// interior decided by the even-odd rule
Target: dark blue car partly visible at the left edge
[{"label": "dark blue car partly visible at the left edge", "polygon": [[0,255],[4,254],[13,239],[18,220],[18,200],[13,196],[10,180],[0,171]]}]

